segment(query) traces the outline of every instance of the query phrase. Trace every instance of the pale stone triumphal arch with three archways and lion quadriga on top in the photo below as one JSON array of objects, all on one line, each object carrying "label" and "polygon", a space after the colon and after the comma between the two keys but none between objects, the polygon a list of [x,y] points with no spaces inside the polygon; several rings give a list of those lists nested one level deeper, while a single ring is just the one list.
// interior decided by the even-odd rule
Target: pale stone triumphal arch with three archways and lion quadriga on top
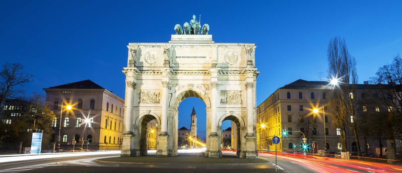
[{"label": "pale stone triumphal arch with three archways and lion quadriga on top", "polygon": [[257,158],[255,44],[214,43],[207,24],[199,34],[199,23],[186,23],[175,27],[168,43],[128,45],[121,156],[147,154],[151,120],[158,125],[157,156],[177,156],[178,106],[198,97],[206,105],[205,156],[221,157],[221,124],[231,120],[237,125],[237,155]]}]

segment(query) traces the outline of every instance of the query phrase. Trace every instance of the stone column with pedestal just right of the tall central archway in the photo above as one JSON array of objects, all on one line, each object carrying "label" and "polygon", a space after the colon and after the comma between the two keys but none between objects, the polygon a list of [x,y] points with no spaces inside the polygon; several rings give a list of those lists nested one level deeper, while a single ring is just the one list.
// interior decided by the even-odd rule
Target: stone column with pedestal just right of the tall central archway
[{"label": "stone column with pedestal just right of the tall central archway", "polygon": [[218,158],[222,156],[218,133],[216,132],[216,113],[217,113],[217,97],[218,83],[211,82],[211,133],[209,134],[209,154],[208,157]]}]

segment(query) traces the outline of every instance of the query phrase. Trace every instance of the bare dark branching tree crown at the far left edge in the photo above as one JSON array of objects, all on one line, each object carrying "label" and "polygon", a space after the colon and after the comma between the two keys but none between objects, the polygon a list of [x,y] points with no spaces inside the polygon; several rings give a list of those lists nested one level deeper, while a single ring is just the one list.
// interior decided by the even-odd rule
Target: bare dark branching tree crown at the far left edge
[{"label": "bare dark branching tree crown at the far left edge", "polygon": [[23,66],[19,63],[4,63],[0,72],[0,104],[4,99],[14,97],[23,91],[19,86],[32,82],[32,75],[22,72]]}]

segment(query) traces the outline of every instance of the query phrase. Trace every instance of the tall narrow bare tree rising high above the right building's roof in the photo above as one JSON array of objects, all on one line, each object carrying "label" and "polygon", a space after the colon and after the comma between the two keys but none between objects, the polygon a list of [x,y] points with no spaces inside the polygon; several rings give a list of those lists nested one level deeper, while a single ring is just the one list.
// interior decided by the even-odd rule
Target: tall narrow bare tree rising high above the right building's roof
[{"label": "tall narrow bare tree rising high above the right building's roof", "polygon": [[358,82],[356,60],[350,55],[345,40],[338,37],[332,39],[328,44],[327,55],[329,77],[340,80],[339,85],[334,87],[333,99],[330,104],[330,109],[333,110],[332,123],[341,130],[340,136],[344,151],[348,151],[346,128],[353,131],[357,154],[360,156],[359,117],[356,115],[356,104],[353,96],[353,93],[356,93]]}]

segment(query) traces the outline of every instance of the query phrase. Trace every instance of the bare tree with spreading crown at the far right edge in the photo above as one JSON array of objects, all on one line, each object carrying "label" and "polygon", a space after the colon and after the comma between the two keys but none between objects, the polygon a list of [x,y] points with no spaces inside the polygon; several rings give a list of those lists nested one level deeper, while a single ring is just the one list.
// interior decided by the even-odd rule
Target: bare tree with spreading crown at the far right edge
[{"label": "bare tree with spreading crown at the far right edge", "polygon": [[396,158],[395,138],[402,138],[402,59],[399,55],[394,57],[391,64],[386,64],[378,69],[376,76],[371,78],[372,83],[377,84],[378,97],[381,100],[385,120],[382,130],[387,137],[388,162],[394,162]]}]

